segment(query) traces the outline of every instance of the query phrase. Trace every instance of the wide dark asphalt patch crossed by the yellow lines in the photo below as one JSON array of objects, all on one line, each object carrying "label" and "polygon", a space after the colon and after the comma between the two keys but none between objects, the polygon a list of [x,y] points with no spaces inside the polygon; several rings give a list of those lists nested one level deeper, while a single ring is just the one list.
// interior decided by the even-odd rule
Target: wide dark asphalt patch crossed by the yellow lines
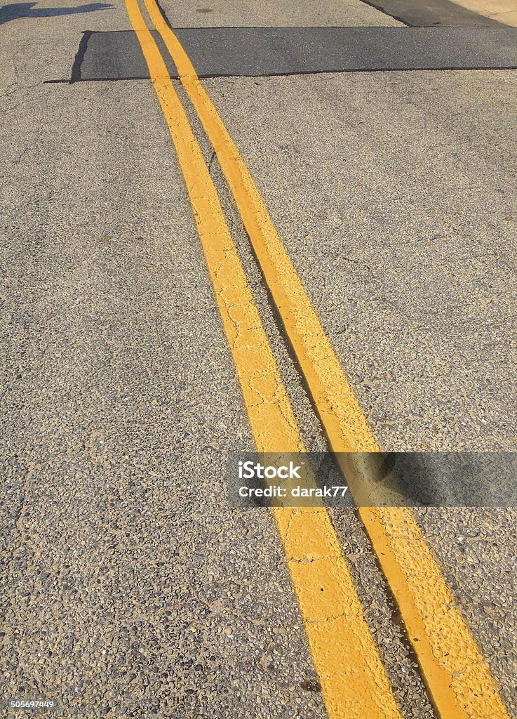
[{"label": "wide dark asphalt patch crossed by the yellow lines", "polygon": [[[174,29],[202,78],[373,70],[517,68],[513,27],[208,27]],[[172,78],[177,70],[153,33]],[[134,32],[92,32],[75,79],[149,78]]]}]

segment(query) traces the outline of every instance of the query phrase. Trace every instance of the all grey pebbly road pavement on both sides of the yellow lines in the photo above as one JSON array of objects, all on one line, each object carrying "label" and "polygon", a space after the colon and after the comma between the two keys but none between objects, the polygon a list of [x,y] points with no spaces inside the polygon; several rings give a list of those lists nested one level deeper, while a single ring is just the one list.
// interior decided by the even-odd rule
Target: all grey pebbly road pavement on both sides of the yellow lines
[{"label": "all grey pebbly road pavement on both sides of the yellow lines", "polygon": [[[0,694],[57,696],[63,718],[323,718],[273,519],[221,499],[225,457],[253,442],[154,91],[45,84],[85,29],[131,29],[124,5],[52,6],[0,16]],[[399,24],[351,0],[164,9],[177,27]],[[205,86],[381,444],[513,449],[515,73]],[[325,449],[211,167],[304,439]],[[517,715],[514,514],[419,521]],[[332,516],[404,719],[430,719],[368,541]]]}]

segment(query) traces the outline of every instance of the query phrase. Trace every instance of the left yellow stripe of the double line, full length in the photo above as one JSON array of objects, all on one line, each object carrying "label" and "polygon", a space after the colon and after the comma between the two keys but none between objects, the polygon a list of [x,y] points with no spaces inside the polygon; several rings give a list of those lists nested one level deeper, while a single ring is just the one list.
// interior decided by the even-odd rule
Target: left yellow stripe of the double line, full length
[{"label": "left yellow stripe of the double line, full length", "polygon": [[[202,152],[136,0],[126,6],[185,178],[256,448],[304,452]],[[327,511],[274,513],[330,719],[401,719]]]}]

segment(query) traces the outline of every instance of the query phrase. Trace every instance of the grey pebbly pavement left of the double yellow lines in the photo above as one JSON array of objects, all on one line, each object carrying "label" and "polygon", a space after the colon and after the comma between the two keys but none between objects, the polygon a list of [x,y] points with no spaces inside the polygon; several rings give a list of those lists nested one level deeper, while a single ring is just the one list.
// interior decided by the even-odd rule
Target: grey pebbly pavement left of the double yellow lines
[{"label": "grey pebbly pavement left of the double yellow lines", "polygon": [[273,518],[223,504],[251,436],[154,91],[43,85],[73,18],[3,51],[1,696],[322,717]]}]

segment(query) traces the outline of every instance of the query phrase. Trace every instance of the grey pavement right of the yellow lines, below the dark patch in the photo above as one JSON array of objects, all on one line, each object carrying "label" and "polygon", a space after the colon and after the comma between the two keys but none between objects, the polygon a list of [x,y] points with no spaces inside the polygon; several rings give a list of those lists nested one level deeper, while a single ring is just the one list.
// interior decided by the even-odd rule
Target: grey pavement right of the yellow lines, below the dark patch
[{"label": "grey pavement right of the yellow lines, below the dark patch", "polygon": [[[515,73],[206,87],[383,449],[513,449]],[[455,593],[515,713],[515,517],[450,509],[422,521],[444,571],[462,576]],[[451,526],[477,538],[472,554],[459,540],[460,567]]]}]

